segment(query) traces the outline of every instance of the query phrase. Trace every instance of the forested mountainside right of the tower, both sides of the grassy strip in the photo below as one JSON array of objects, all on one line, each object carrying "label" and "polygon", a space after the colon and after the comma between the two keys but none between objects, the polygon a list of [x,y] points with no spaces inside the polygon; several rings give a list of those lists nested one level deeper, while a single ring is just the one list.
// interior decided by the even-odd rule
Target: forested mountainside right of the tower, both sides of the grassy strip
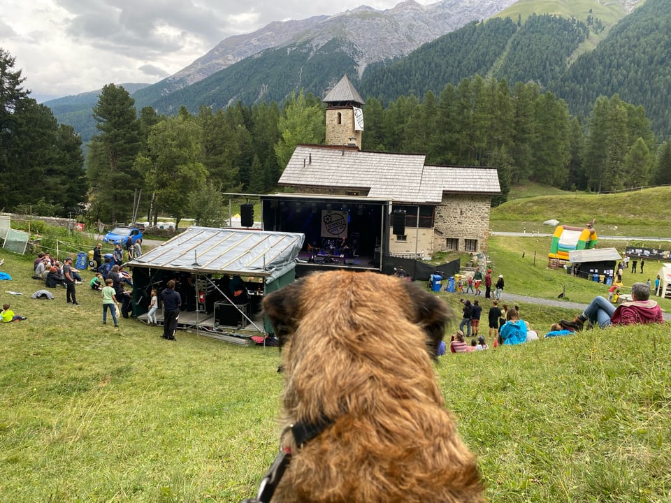
[{"label": "forested mountainside right of the tower, both sides of the grassy strip", "polygon": [[[603,22],[556,15],[530,15],[471,23],[423,45],[408,57],[370,68],[359,82],[362,96],[383,103],[398,96],[438,94],[473,75],[537,82],[586,117],[599,96],[618,94],[641,105],[656,134],[671,134],[671,108],[661,106],[671,89],[671,8],[668,0],[647,0],[616,24],[591,52],[575,57]],[[575,61],[574,61],[575,59]]]}]

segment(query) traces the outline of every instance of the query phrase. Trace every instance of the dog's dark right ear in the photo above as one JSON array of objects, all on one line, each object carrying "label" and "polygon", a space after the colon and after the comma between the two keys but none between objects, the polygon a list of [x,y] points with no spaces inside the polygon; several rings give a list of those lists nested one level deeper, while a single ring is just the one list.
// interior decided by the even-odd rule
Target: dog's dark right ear
[{"label": "dog's dark right ear", "polygon": [[426,333],[426,346],[431,358],[436,359],[438,344],[445,335],[445,326],[452,319],[452,310],[440,298],[412,283],[403,282],[412,303],[413,323]]}]

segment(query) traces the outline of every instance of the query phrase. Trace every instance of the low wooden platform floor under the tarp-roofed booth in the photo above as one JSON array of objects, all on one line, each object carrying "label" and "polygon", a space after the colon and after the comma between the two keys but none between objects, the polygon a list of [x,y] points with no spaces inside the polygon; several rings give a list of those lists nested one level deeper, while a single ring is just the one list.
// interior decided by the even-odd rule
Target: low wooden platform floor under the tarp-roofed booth
[{"label": "low wooden platform floor under the tarp-roofed booth", "polygon": [[[138,321],[149,324],[147,313],[140,314]],[[156,312],[156,321],[159,326],[163,326],[164,316],[162,309]],[[240,346],[253,346],[252,336],[265,337],[264,323],[261,319],[252,319],[254,323],[248,323],[247,326],[223,326],[217,323],[213,314],[197,311],[182,311],[177,322],[178,330],[185,330],[190,333],[196,333],[212,337],[215,339],[239,344]]]}]

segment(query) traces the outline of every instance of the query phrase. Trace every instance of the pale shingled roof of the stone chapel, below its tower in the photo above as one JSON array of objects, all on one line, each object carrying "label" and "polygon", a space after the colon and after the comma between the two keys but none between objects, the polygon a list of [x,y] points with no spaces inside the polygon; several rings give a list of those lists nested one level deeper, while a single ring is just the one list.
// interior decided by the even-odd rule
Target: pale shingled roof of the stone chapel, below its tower
[{"label": "pale shingled roof of the stone chapel, below its tower", "polygon": [[367,191],[369,198],[435,203],[442,194],[500,194],[495,168],[426,166],[424,154],[361,152],[333,145],[298,145],[280,185]]}]

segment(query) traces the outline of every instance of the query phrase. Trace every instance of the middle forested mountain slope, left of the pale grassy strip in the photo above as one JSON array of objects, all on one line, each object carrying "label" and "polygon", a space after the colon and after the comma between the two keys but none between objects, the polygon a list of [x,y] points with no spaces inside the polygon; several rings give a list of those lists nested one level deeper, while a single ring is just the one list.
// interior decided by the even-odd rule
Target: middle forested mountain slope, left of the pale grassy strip
[{"label": "middle forested mountain slope, left of the pale grassy strip", "polygon": [[533,14],[524,24],[510,17],[472,22],[400,61],[368,69],[361,90],[363,96],[386,103],[401,94],[439,93],[446,84],[475,75],[546,85],[563,75],[569,57],[587,36],[584,22],[547,14]]}]

